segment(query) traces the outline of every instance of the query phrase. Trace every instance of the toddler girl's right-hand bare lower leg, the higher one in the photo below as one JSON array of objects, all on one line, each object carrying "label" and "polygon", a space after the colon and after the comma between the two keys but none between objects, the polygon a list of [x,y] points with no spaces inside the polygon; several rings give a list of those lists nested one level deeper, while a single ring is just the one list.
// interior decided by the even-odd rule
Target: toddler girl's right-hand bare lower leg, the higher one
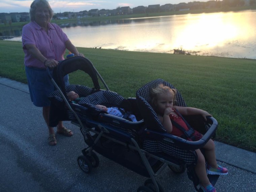
[{"label": "toddler girl's right-hand bare lower leg, the higher one", "polygon": [[210,139],[204,146],[203,149],[205,150],[205,159],[207,163],[213,167],[218,168],[217,161],[216,161],[216,154],[215,154],[215,145],[214,141]]}]

